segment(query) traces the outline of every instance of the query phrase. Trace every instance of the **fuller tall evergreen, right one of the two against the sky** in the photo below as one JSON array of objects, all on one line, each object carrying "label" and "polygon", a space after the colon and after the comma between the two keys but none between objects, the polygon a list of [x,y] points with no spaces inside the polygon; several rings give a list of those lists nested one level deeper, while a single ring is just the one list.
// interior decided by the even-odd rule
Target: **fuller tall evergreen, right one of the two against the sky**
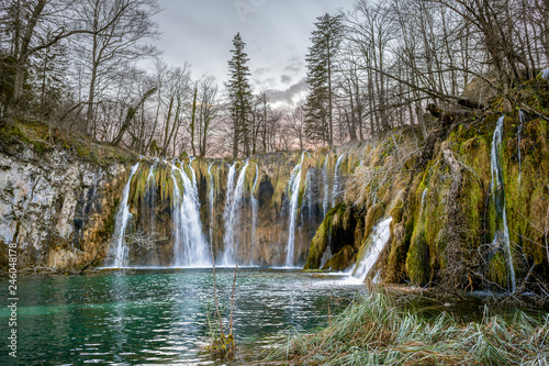
[{"label": "fuller tall evergreen, right one of the two against the sky", "polygon": [[332,88],[335,56],[343,37],[343,16],[328,13],[317,18],[309,48],[307,82],[311,92],[306,100],[305,133],[313,141],[334,143]]}]

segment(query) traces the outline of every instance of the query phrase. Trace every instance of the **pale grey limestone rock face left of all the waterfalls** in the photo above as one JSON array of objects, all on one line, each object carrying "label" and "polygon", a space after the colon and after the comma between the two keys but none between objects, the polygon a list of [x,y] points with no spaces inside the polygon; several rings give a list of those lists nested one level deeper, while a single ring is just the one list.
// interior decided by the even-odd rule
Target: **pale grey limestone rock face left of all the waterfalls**
[{"label": "pale grey limestone rock face left of all the waterfalls", "polygon": [[103,256],[127,178],[67,149],[0,153],[0,266],[18,244],[18,265],[76,270]]}]

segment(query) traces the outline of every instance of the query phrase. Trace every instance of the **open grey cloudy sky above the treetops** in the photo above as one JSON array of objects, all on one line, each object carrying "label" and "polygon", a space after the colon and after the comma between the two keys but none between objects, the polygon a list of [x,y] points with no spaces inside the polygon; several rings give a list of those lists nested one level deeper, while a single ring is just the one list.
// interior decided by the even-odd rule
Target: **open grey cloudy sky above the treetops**
[{"label": "open grey cloudy sky above the treetops", "polygon": [[349,10],[354,0],[160,0],[156,16],[163,33],[156,42],[170,65],[191,64],[195,77],[227,79],[232,41],[247,44],[256,92],[272,102],[290,102],[306,90],[305,54],[317,16]]}]

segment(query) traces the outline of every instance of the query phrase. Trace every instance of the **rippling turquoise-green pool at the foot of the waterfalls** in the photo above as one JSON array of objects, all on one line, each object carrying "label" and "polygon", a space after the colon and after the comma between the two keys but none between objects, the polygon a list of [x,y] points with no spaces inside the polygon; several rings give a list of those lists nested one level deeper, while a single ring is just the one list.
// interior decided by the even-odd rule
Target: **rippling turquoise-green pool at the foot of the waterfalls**
[{"label": "rippling turquoise-green pool at the foot of the waterfalls", "polygon": [[[220,269],[219,296],[228,325],[232,269]],[[322,286],[290,270],[242,269],[235,293],[239,346],[259,347],[289,332],[325,324],[360,287]],[[7,281],[2,280],[2,287]],[[103,273],[85,277],[22,278],[19,282],[19,363],[198,364],[210,334],[213,280],[208,269]],[[5,301],[5,300],[2,300]],[[337,304],[334,304],[337,303]],[[0,309],[5,347],[5,303]],[[5,353],[0,365],[10,365]]]}]

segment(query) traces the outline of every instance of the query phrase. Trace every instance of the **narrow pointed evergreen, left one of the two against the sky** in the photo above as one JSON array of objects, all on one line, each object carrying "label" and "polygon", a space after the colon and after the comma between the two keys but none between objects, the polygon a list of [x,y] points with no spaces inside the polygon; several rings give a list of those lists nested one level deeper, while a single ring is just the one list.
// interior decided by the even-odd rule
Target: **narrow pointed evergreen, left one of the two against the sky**
[{"label": "narrow pointed evergreen, left one of the two against the sky", "polygon": [[[233,57],[228,62],[229,80],[226,84],[229,112],[233,120],[233,158],[238,157],[242,151],[245,156],[250,155],[251,142],[251,87],[249,86],[249,68],[246,63],[248,55],[244,52],[246,44],[242,41],[240,33],[233,40]],[[240,147],[242,146],[242,147]]]}]

